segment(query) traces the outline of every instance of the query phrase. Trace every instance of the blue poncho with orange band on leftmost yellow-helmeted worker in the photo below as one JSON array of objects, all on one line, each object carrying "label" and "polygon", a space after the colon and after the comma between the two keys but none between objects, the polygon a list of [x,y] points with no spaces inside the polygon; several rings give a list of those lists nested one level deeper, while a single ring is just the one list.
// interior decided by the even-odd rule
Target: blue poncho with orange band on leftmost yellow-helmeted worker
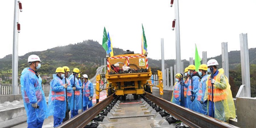
[{"label": "blue poncho with orange band on leftmost yellow-helmeted worker", "polygon": [[63,86],[63,81],[56,74],[53,74],[53,79],[50,82],[51,89],[49,92],[48,101],[48,116],[56,116],[58,118],[65,118],[66,112],[66,92]]}]

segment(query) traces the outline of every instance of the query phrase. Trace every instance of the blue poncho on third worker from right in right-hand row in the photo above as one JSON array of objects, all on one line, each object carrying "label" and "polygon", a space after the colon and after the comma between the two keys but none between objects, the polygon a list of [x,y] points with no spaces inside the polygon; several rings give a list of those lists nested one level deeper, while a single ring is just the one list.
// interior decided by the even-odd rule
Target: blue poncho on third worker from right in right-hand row
[{"label": "blue poncho on third worker from right in right-hand row", "polygon": [[[198,84],[199,84],[199,74],[198,72],[194,72],[192,75],[192,79],[190,77],[189,82],[187,84],[185,84],[185,87],[187,87],[187,93],[186,93],[186,106],[187,108],[190,109],[190,105],[192,103],[192,86],[193,85],[193,90],[196,90],[198,88]],[[193,100],[195,99],[195,94],[193,94]]]}]

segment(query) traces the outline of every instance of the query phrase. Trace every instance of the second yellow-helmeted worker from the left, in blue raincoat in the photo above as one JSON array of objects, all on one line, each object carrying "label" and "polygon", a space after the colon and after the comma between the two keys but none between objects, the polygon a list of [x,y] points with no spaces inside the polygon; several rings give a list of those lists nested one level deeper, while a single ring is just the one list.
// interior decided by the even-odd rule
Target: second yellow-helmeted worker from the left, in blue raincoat
[{"label": "second yellow-helmeted worker from the left, in blue raincoat", "polygon": [[[66,70],[66,79],[65,78],[63,78],[62,79],[62,81],[63,81],[63,83],[67,83],[67,101],[68,101],[68,111],[66,111],[67,113],[69,113],[70,112],[70,105],[71,105],[71,97],[72,97],[72,94],[73,94],[73,89],[72,89],[72,85],[71,85],[71,83],[70,83],[70,80],[68,79],[69,78],[69,76],[70,76],[70,69],[69,69],[69,67],[67,67],[67,66],[64,66],[64,67],[62,67],[63,69],[64,69],[64,71]],[[66,114],[67,114],[66,113]],[[63,119],[63,121],[62,122],[65,122],[65,121],[67,121],[69,119],[69,114],[67,114],[67,117],[65,117],[64,119]]]}]

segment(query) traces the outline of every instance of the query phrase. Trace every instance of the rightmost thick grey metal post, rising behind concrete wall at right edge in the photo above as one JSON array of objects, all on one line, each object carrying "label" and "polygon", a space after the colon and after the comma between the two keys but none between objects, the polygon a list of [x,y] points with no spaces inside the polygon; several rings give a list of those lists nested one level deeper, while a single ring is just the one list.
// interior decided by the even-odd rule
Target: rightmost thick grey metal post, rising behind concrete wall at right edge
[{"label": "rightmost thick grey metal post, rising behind concrete wall at right edge", "polygon": [[240,34],[240,49],[241,49],[240,53],[241,53],[242,84],[245,85],[245,96],[251,97],[250,95],[250,63],[249,63],[247,33]]}]

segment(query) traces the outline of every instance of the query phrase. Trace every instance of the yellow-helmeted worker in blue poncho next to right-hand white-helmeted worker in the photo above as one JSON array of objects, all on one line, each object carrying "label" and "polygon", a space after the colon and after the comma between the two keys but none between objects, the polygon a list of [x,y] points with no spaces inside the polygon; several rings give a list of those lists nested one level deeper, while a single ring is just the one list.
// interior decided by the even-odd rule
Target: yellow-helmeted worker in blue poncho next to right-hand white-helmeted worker
[{"label": "yellow-helmeted worker in blue poncho next to right-hand white-helmeted worker", "polygon": [[204,102],[204,95],[206,91],[206,81],[209,75],[207,75],[207,65],[201,64],[198,68],[199,76],[201,76],[200,83],[198,85],[198,89],[193,90],[193,93],[195,94],[195,100],[190,105],[190,108],[193,111],[197,111],[202,114],[207,114],[207,102]]}]

